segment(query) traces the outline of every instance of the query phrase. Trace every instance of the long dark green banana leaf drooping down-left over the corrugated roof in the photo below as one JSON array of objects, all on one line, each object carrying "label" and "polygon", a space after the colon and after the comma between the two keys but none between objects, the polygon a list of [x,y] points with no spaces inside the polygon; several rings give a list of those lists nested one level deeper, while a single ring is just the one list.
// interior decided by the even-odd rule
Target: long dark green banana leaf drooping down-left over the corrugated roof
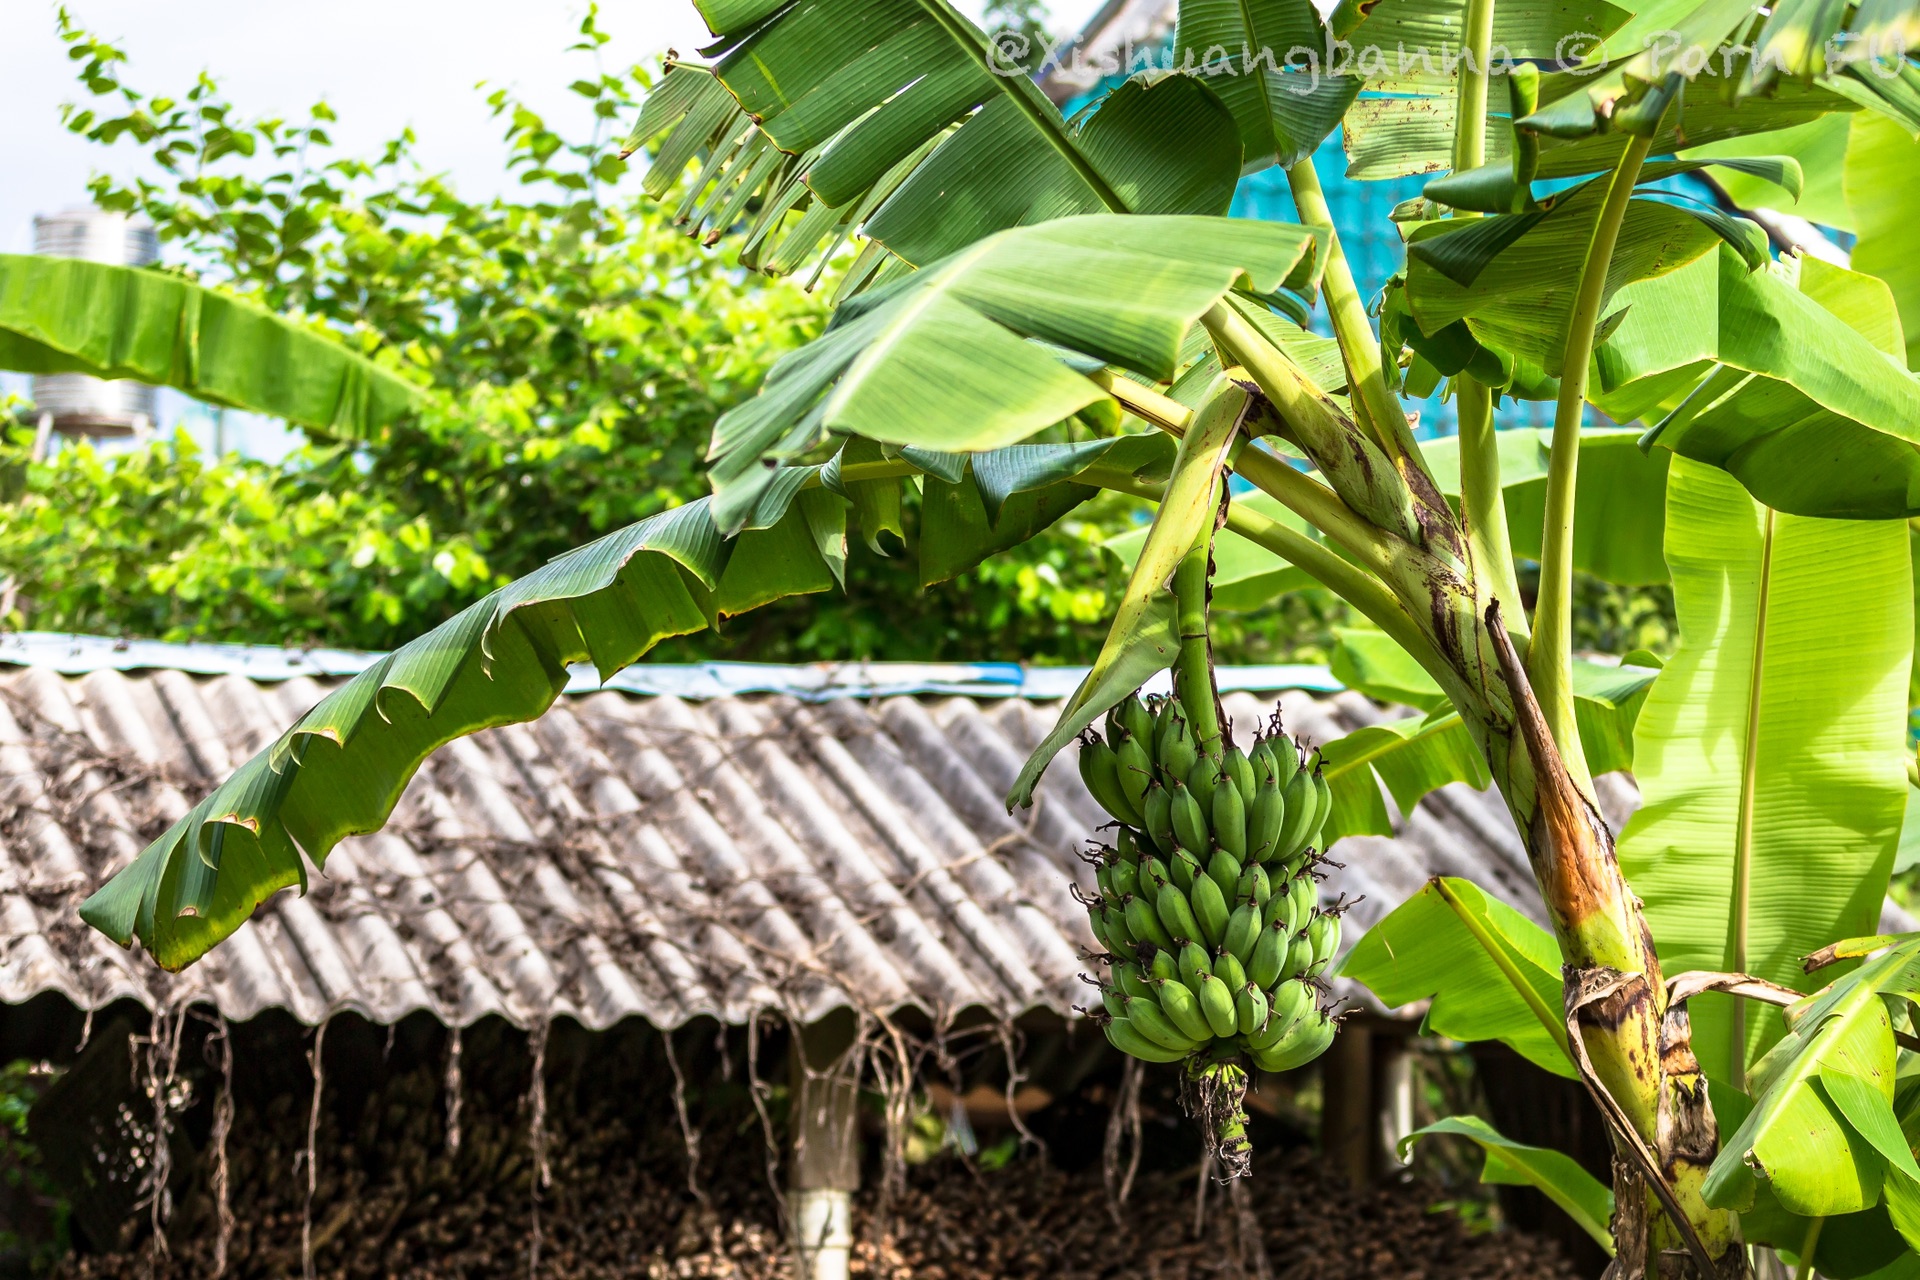
[{"label": "long dark green banana leaf drooping down-left over the corrugated roof", "polygon": [[420,762],[478,729],[534,720],[566,664],[601,676],[668,635],[766,601],[826,591],[847,505],[780,486],[720,537],[708,499],[570,551],[334,689],[83,906],[115,942],[182,969],[349,835],[376,831]]}]

